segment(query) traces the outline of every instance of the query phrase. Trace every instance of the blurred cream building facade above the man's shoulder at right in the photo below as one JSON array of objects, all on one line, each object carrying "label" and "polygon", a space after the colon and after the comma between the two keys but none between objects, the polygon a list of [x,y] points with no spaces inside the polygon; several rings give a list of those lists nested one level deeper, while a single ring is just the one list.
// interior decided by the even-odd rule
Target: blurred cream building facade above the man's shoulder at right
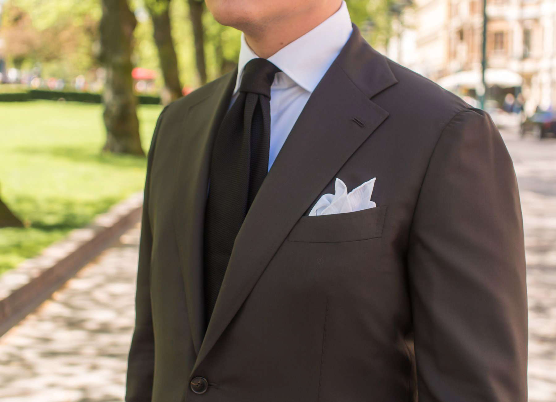
[{"label": "blurred cream building facade above the man's shoulder at right", "polygon": [[[486,1],[488,94],[522,91],[529,114],[556,108],[556,0]],[[480,81],[482,0],[415,0],[402,22],[389,57],[449,86],[462,80],[456,91],[476,94],[470,87]]]}]

